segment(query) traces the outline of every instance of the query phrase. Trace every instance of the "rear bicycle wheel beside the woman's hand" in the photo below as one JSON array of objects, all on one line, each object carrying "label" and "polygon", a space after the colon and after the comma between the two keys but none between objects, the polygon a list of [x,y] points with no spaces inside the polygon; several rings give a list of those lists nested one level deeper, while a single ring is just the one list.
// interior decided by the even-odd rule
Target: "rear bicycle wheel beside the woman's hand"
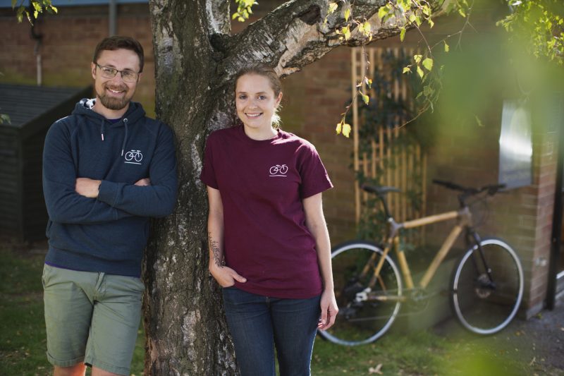
[{"label": "rear bicycle wheel beside the woman's hand", "polygon": [[[362,241],[343,243],[334,248],[331,257],[339,312],[333,327],[321,331],[321,336],[346,346],[375,341],[388,330],[400,310],[398,296],[402,284],[398,267],[386,256],[375,285],[369,286],[382,257],[377,245]],[[367,265],[368,272],[362,277],[362,269]]]}]

